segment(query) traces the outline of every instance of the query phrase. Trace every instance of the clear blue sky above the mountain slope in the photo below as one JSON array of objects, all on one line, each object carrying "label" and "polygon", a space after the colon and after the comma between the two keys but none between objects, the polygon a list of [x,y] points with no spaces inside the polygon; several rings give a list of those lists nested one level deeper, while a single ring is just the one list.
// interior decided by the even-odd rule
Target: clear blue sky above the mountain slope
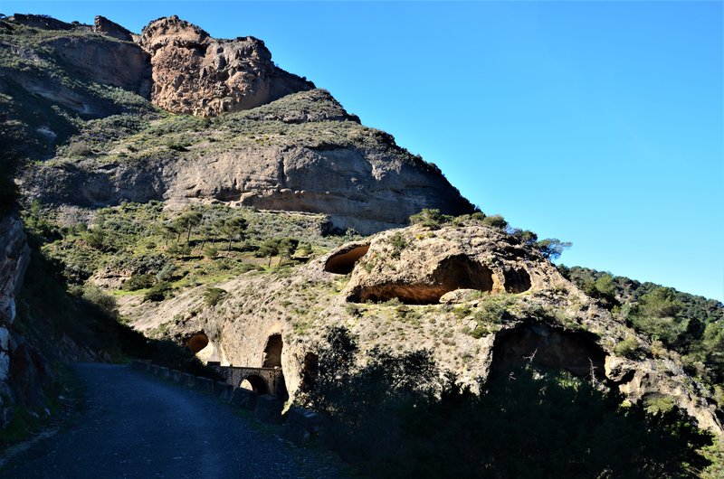
[{"label": "clear blue sky above the mountain slope", "polygon": [[[721,2],[34,2],[134,32],[178,14],[438,164],[567,265],[724,299]],[[102,68],[102,67],[101,67]]]}]

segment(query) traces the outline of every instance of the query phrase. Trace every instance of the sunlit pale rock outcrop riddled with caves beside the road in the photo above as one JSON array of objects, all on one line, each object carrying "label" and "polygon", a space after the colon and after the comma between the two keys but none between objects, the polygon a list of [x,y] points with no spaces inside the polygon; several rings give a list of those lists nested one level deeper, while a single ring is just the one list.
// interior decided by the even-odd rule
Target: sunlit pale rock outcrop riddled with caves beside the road
[{"label": "sunlit pale rock outcrop riddled with caves beside the road", "polygon": [[[292,399],[313,374],[323,333],[344,325],[362,351],[429,349],[473,389],[512,363],[533,361],[620,390],[631,401],[672,399],[702,427],[722,432],[710,393],[675,355],[653,354],[650,343],[538,251],[474,222],[386,231],[293,274],[251,272],[219,286],[229,296],[213,307],[200,287],[159,305],[127,296],[124,313],[137,318],[139,329],[162,329],[181,343],[203,333],[202,357],[240,366],[262,366],[271,336],[281,334]],[[616,354],[615,345],[631,337],[645,357]]]}]

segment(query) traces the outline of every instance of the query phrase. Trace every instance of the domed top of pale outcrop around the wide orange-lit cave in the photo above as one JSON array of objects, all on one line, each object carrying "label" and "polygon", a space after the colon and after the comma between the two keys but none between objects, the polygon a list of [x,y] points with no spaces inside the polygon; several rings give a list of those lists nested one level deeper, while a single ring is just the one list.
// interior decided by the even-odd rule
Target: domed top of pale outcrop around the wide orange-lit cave
[{"label": "domed top of pale outcrop around the wide orange-lit cave", "polygon": [[502,232],[481,227],[403,231],[370,243],[363,267],[355,268],[346,289],[349,301],[396,297],[405,304],[429,305],[451,300],[458,289],[499,295],[563,281],[548,261]]}]

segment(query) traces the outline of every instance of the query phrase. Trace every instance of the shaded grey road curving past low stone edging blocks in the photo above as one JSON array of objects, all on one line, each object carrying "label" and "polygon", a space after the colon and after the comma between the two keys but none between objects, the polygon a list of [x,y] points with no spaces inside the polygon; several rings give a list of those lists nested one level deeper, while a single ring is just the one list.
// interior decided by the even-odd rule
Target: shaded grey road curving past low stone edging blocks
[{"label": "shaded grey road curving past low stone edging blocks", "polygon": [[334,456],[288,446],[211,396],[129,366],[89,363],[75,369],[86,386],[80,416],[15,456],[0,477],[340,476]]}]

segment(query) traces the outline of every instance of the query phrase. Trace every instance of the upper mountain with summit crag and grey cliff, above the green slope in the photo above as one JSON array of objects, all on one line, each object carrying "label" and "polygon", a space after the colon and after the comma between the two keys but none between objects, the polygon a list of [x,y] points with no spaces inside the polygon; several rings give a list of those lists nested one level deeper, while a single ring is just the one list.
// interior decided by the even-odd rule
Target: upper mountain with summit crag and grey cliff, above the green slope
[{"label": "upper mountain with summit crag and grey cliff, above the green slope", "polygon": [[423,208],[473,209],[436,166],[276,67],[257,39],[214,40],[177,17],[136,37],[101,18],[46,23],[11,17],[0,36],[5,136],[46,158],[24,175],[28,197],[233,202],[324,212],[363,233]]}]

